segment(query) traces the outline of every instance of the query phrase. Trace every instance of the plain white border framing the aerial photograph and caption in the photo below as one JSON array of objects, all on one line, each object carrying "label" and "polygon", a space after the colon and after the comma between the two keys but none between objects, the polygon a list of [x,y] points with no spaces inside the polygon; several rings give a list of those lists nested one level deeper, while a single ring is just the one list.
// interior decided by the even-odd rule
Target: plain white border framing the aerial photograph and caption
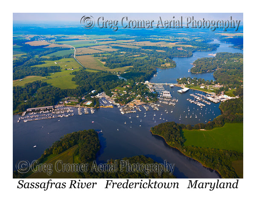
[{"label": "plain white border framing the aerial photograph and caption", "polygon": [[[1,79],[1,107],[4,111],[1,115],[2,131],[2,159],[0,183],[1,194],[11,201],[26,203],[71,203],[88,202],[98,203],[160,203],[160,202],[189,202],[189,203],[241,203],[244,199],[250,199],[253,196],[254,184],[254,158],[252,157],[253,144],[255,144],[255,132],[249,129],[253,126],[255,116],[255,105],[253,102],[253,82],[255,78],[255,65],[253,54],[255,51],[254,36],[255,25],[252,7],[246,5],[244,1],[234,0],[224,2],[215,1],[9,1],[7,7],[2,5],[2,29],[1,29],[1,68],[4,71]],[[239,12],[244,13],[244,178],[239,179],[239,189],[237,190],[188,190],[186,186],[188,179],[175,179],[180,183],[178,190],[105,190],[96,188],[94,190],[17,190],[17,179],[12,179],[12,13],[15,12],[154,12],[154,13],[178,13],[178,12]],[[251,46],[250,46],[251,45]],[[253,63],[254,62],[254,63]],[[6,77],[7,76],[7,77]],[[253,117],[252,117],[253,116]],[[11,148],[10,148],[11,147]],[[37,179],[47,181],[47,179]],[[58,179],[56,179],[57,181]],[[66,179],[61,179],[64,181]],[[105,179],[86,179],[96,180],[97,183],[105,185]],[[166,180],[166,179],[165,179]],[[209,181],[214,179],[199,179],[200,181]],[[229,179],[225,179],[228,181]],[[35,181],[35,180],[26,180]],[[120,180],[118,180],[120,181]],[[139,179],[140,181],[140,179]],[[164,180],[161,180],[164,182]],[[169,180],[166,180],[167,182]],[[240,182],[241,181],[241,182]],[[184,187],[182,187],[184,186]],[[9,194],[10,192],[11,194]]]}]

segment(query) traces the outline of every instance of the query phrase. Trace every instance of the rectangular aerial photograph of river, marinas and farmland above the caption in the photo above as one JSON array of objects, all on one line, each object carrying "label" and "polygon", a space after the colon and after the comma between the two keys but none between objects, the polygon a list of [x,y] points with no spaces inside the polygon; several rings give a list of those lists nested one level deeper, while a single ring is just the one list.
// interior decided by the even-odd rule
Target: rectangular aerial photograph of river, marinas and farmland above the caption
[{"label": "rectangular aerial photograph of river, marinas and farmland above the caption", "polygon": [[12,178],[243,178],[243,13],[13,13]]}]

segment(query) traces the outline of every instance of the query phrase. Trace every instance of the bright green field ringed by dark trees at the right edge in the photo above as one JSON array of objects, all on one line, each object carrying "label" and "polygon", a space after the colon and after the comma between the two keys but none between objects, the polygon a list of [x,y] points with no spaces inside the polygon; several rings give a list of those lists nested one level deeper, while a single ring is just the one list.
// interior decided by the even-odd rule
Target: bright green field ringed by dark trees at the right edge
[{"label": "bright green field ringed by dark trees at the right edge", "polygon": [[183,130],[185,146],[243,152],[243,123],[226,123],[212,130]]}]

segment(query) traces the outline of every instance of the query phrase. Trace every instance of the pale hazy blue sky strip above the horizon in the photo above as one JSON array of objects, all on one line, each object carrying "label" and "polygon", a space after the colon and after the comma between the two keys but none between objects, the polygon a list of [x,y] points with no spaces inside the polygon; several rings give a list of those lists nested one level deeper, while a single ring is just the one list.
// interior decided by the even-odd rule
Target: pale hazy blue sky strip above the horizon
[{"label": "pale hazy blue sky strip above the horizon", "polygon": [[155,20],[159,17],[170,20],[182,17],[194,17],[198,20],[234,20],[243,21],[243,13],[13,13],[13,22],[23,23],[46,23],[46,22],[79,22],[84,15],[105,17],[110,20],[120,20],[122,17],[128,16],[132,20]]}]

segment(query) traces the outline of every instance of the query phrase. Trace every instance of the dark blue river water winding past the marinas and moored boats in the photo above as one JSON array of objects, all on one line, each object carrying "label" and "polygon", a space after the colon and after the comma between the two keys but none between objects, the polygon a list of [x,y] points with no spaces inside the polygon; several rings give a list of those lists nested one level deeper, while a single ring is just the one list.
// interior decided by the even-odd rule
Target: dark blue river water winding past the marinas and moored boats
[{"label": "dark blue river water winding past the marinas and moored boats", "polygon": [[[221,44],[213,53],[223,51],[242,53],[239,49],[228,47],[231,44],[220,43],[217,40],[213,42]],[[210,57],[209,53],[212,52],[195,52],[193,57],[175,58],[176,68],[158,69],[157,77],[151,79],[150,82],[170,83],[176,82],[176,79],[180,77],[191,77],[192,74],[188,72],[188,69],[192,67],[190,63],[198,57]],[[193,76],[206,80],[213,79],[211,73]],[[189,94],[204,94],[203,92],[189,90],[185,94],[179,94],[177,90],[180,88],[170,88],[169,86],[164,86],[164,88],[169,90],[172,97],[178,99],[178,102],[175,106],[157,102],[160,104],[159,111],[154,111],[151,107],[150,111],[145,111],[143,107],[140,107],[141,112],[122,115],[119,109],[114,107],[100,108],[93,114],[78,115],[77,109],[73,108],[74,116],[19,123],[17,120],[20,116],[14,115],[13,170],[16,170],[15,164],[19,160],[31,162],[38,159],[44,150],[59,140],[61,136],[78,130],[95,129],[102,130],[99,133],[101,150],[97,157],[98,163],[105,163],[109,159],[145,155],[160,163],[166,160],[168,163],[176,164],[174,175],[177,178],[220,178],[216,171],[203,167],[198,161],[184,156],[178,150],[169,147],[163,138],[153,136],[149,131],[151,127],[166,121],[191,125],[211,121],[221,114],[218,109],[219,104],[211,103],[201,109],[186,99],[193,99]],[[171,113],[171,111],[173,112]],[[34,145],[37,147],[33,148]]]}]

